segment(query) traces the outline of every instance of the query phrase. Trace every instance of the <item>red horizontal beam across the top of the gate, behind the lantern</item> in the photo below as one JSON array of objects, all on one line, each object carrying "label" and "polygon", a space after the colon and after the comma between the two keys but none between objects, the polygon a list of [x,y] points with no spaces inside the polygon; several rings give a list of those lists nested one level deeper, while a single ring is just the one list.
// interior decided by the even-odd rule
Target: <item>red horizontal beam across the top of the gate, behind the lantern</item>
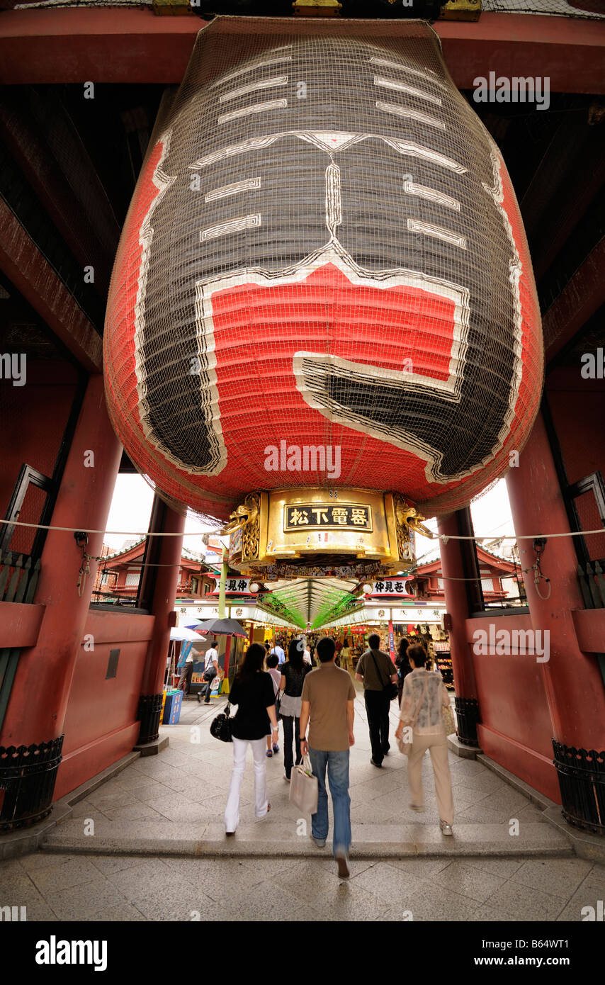
[{"label": "red horizontal beam across the top of the gate, behind the lantern", "polygon": [[[151,10],[7,10],[0,17],[0,82],[179,83],[198,17],[156,17]],[[306,25],[306,27],[305,27]],[[353,26],[357,26],[353,28]],[[379,39],[405,20],[339,19],[336,29]],[[326,22],[326,29],[333,30]],[[316,30],[313,18],[275,19],[275,33]],[[477,76],[547,76],[553,92],[605,93],[605,25],[565,17],[482,14],[476,23],[439,21],[443,55],[459,89]]]}]

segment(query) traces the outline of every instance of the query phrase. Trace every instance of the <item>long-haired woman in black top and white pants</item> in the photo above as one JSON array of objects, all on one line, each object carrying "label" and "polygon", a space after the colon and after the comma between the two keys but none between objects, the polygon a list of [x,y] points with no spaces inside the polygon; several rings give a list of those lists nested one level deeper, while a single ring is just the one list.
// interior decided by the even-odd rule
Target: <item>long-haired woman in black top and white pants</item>
[{"label": "long-haired woman in black top and white pants", "polygon": [[258,819],[265,818],[271,810],[267,803],[265,746],[269,734],[277,742],[279,730],[273,681],[262,669],[264,659],[264,646],[258,643],[248,646],[230,693],[230,703],[237,705],[237,712],[232,725],[234,771],[225,808],[226,834],[235,834],[239,823],[239,791],[248,745],[254,757],[254,814]]}]

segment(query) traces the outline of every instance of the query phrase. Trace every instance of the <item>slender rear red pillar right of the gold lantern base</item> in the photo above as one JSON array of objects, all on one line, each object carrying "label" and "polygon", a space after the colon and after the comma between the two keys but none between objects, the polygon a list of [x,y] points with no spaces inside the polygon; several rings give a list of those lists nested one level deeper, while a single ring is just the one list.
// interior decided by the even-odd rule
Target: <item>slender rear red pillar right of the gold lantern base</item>
[{"label": "slender rear red pillar right of the gold lantern base", "polygon": [[[460,536],[461,525],[457,513],[439,519],[439,535]],[[445,594],[446,629],[449,636],[451,667],[456,689],[456,729],[458,738],[469,746],[478,746],[477,721],[479,701],[475,670],[466,638],[466,621],[469,618],[467,582],[468,567],[464,564],[462,542],[443,541],[439,544],[443,591]]]}]

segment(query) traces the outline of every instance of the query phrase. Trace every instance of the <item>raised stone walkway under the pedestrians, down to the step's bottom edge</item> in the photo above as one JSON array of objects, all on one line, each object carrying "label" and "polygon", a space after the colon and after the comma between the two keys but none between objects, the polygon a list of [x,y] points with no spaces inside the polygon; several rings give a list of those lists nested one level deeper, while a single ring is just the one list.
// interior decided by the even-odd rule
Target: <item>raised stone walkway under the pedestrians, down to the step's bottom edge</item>
[{"label": "raised stone walkway under the pedestrians, down to the step's bottom edge", "polygon": [[[240,822],[226,839],[223,814],[231,780],[233,747],[213,739],[211,720],[224,699],[211,707],[189,698],[181,721],[163,729],[170,745],[160,755],[139,757],[75,805],[51,831],[51,851],[121,851],[135,854],[315,856],[304,819],[291,805],[284,779],[283,751],[267,759],[271,813],[256,821],[251,753],[241,788]],[[393,702],[393,707],[395,702]],[[357,857],[441,855],[570,855],[566,837],[543,820],[541,811],[501,777],[474,759],[450,754],[456,817],[454,836],[438,827],[433,769],[423,766],[426,813],[410,811],[407,760],[393,740],[381,769],[370,763],[370,737],[363,690],[356,699],[351,750],[351,822]],[[393,730],[396,716],[391,714]],[[510,834],[511,819],[518,821]],[[300,822],[302,820],[302,823]],[[94,821],[94,834],[90,830]],[[309,823],[310,828],[310,823]],[[310,833],[310,830],[308,831]]]}]

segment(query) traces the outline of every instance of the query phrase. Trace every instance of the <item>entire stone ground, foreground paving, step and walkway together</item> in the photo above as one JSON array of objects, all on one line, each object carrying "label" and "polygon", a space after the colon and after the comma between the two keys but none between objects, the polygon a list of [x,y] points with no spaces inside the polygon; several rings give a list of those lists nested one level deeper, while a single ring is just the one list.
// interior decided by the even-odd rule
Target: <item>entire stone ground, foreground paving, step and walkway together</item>
[{"label": "entire stone ground, foreground paving, step and walkway together", "polygon": [[[185,702],[168,750],[139,757],[79,801],[41,852],[0,862],[0,906],[28,920],[579,921],[604,898],[605,866],[573,857],[541,811],[481,762],[450,755],[454,836],[409,811],[405,758],[370,764],[361,692],[351,755],[351,879],[317,849],[288,799],[282,751],[267,759],[271,813],[253,814],[251,757],[241,821],[226,839],[232,748],[208,731],[217,707]],[[395,716],[393,715],[393,722]],[[199,741],[198,741],[199,740]],[[519,833],[510,834],[510,821]],[[302,832],[302,833],[301,833]],[[200,857],[204,856],[204,857]]]}]

